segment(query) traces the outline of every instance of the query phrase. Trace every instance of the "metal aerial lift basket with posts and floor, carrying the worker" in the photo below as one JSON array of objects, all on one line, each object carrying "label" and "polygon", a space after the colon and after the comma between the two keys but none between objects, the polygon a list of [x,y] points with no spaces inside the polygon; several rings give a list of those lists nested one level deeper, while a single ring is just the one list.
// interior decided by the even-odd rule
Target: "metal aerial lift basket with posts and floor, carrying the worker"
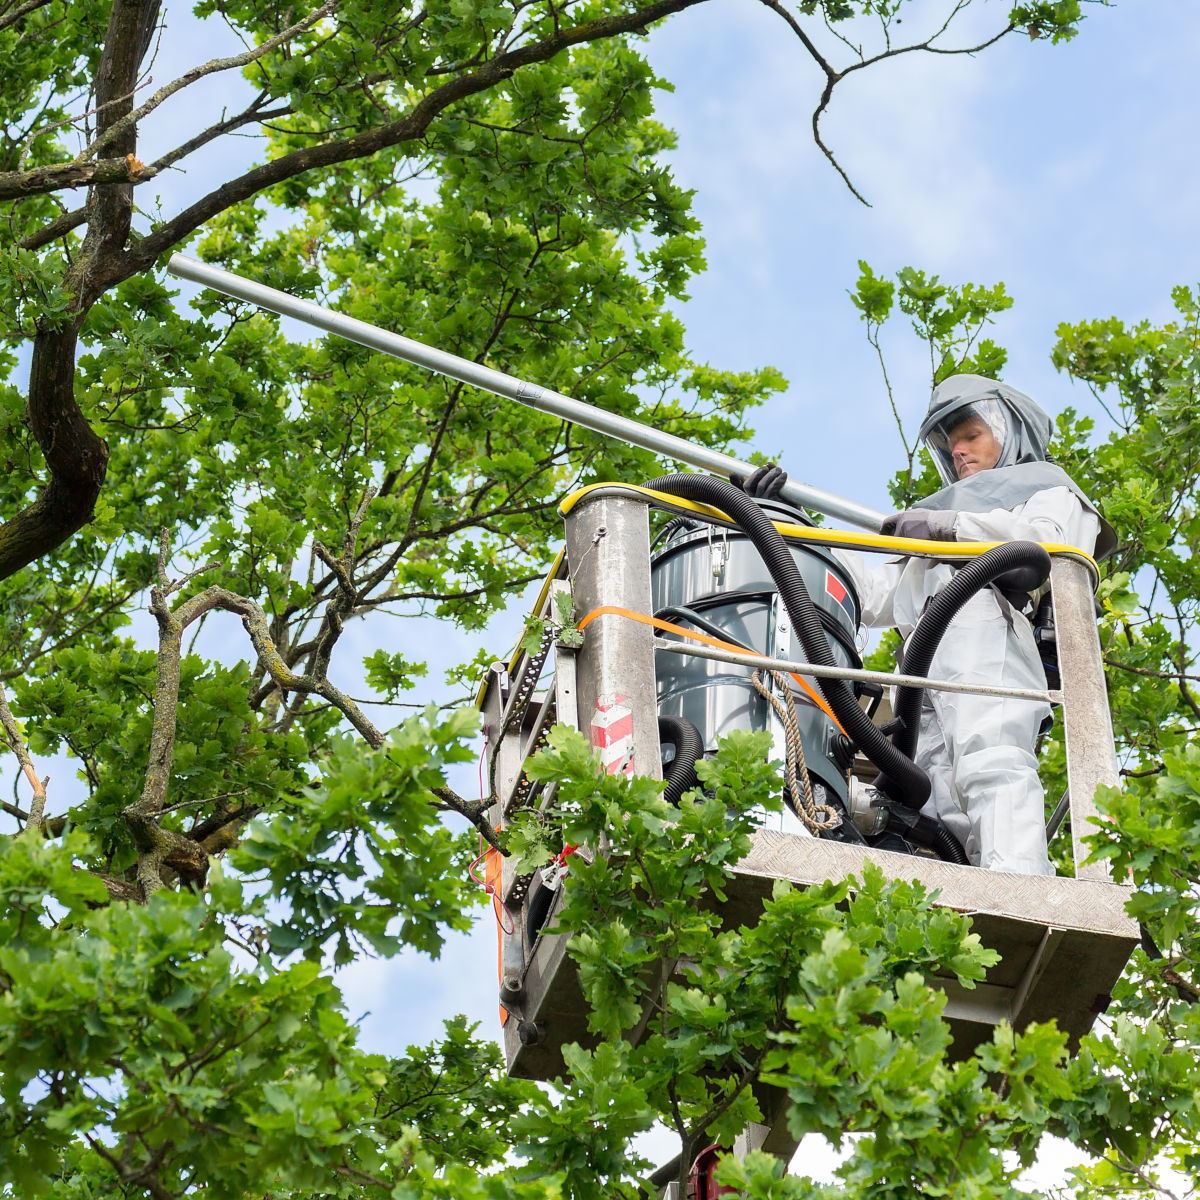
[{"label": "metal aerial lift basket with posts and floor, carrying the worker", "polygon": [[[679,643],[668,647],[655,638],[649,624],[606,610],[652,612],[648,514],[652,505],[676,504],[673,498],[614,485],[587,490],[564,505],[565,557],[556,564],[536,611],[553,619],[554,595],[568,592],[577,619],[598,610],[599,614],[588,622],[578,648],[548,640],[540,654],[520,653],[510,664],[491,668],[481,707],[498,827],[524,805],[553,803],[553,797],[541,794],[524,773],[526,760],[542,744],[548,728],[560,721],[590,732],[600,749],[616,697],[622,697],[623,719],[631,725],[623,752],[632,755],[637,772],[661,778],[655,656],[660,661],[665,653],[712,658],[720,652]],[[814,529],[806,536],[838,540],[835,530]],[[896,552],[905,544],[895,539],[893,545]],[[1130,889],[1112,882],[1104,863],[1086,863],[1081,841],[1097,820],[1096,787],[1118,780],[1092,575],[1085,558],[1061,553],[1051,560],[1062,686],[1061,692],[1046,694],[1062,706],[1074,877],[985,871],[762,828],[728,881],[724,919],[732,928],[755,920],[776,880],[798,887],[842,880],[860,874],[864,859],[888,878],[919,881],[936,892],[937,905],[968,913],[983,944],[998,952],[1000,961],[972,990],[953,979],[930,980],[946,992],[956,1056],[968,1055],[990,1038],[992,1026],[1001,1021],[1020,1028],[1030,1021],[1054,1019],[1072,1045],[1078,1044],[1108,1004],[1110,990],[1138,943],[1138,924],[1126,914]],[[727,658],[734,660],[733,655]],[[820,672],[794,661],[740,661]],[[838,673],[895,679],[852,670]],[[929,685],[936,686],[936,682]],[[552,931],[552,917],[550,930],[544,926],[528,936],[529,877],[515,874],[508,859],[500,876],[499,899],[511,914],[511,931],[506,931],[508,923],[500,931],[505,1057],[511,1074],[550,1080],[563,1070],[564,1044],[588,1044],[583,997],[566,953],[566,935]]]}]

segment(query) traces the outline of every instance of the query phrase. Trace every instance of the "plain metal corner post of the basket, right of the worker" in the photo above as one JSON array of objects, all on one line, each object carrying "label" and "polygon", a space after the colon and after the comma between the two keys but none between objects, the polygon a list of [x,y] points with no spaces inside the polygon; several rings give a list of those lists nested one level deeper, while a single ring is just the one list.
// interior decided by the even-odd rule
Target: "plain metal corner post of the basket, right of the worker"
[{"label": "plain metal corner post of the basket, right of the worker", "polygon": [[1088,851],[1082,838],[1094,830],[1097,822],[1096,788],[1100,784],[1116,786],[1121,781],[1091,578],[1082,563],[1063,557],[1055,557],[1051,563],[1075,877],[1108,880],[1106,863],[1084,865]]}]

